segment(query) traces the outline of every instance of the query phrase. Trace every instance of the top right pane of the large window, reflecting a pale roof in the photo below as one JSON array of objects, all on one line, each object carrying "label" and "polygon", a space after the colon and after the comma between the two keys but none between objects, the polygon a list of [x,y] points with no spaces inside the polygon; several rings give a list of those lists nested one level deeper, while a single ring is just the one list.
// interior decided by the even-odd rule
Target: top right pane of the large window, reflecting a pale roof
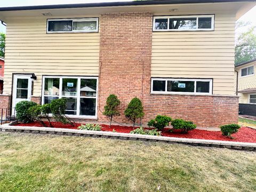
[{"label": "top right pane of the large window, reflecting a pale roof", "polygon": [[80,95],[96,97],[97,79],[81,79]]}]

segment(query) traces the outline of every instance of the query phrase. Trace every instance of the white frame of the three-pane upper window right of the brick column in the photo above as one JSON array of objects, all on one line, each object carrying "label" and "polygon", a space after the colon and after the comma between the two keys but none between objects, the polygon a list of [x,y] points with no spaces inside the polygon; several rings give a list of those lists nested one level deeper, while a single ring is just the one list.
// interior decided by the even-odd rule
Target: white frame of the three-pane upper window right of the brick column
[{"label": "white frame of the three-pane upper window right of the brick column", "polygon": [[[198,18],[211,18],[212,25],[210,29],[198,29]],[[196,18],[196,29],[169,29],[169,19],[175,18]],[[167,19],[167,29],[155,29],[156,19]],[[177,15],[177,16],[155,16],[153,19],[153,31],[212,31],[214,30],[214,14],[209,15]]]}]

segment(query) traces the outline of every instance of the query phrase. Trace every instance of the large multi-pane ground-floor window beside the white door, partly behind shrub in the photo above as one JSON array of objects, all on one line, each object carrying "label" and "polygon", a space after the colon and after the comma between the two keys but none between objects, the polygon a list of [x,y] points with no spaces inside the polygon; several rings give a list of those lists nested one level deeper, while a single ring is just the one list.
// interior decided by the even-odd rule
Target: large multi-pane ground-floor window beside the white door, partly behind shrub
[{"label": "large multi-pane ground-floor window beside the white door, partly behind shrub", "polygon": [[67,98],[67,115],[96,117],[98,77],[43,77],[42,103]]}]

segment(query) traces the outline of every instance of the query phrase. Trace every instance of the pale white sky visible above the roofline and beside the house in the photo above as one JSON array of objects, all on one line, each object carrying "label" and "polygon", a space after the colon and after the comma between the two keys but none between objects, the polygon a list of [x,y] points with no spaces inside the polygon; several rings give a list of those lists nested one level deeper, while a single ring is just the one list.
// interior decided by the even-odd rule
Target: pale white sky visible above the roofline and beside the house
[{"label": "pale white sky visible above the roofline and beside the house", "polygon": [[[29,5],[54,5],[54,4],[75,4],[75,3],[98,3],[98,2],[125,2],[129,0],[44,0],[44,1],[35,1],[35,0],[0,0],[0,7],[9,7],[9,6],[29,6]],[[132,0],[130,0],[132,1]],[[247,12],[239,20],[250,21],[252,25],[256,26],[256,6],[253,7],[249,12]],[[5,33],[5,26],[0,24],[0,33]]]}]

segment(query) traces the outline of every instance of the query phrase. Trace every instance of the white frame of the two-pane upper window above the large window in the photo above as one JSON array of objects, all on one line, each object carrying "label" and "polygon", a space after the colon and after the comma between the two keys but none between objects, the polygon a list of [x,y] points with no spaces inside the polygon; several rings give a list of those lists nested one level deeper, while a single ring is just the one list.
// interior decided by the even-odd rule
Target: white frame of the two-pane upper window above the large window
[{"label": "white frame of the two-pane upper window above the large window", "polygon": [[[72,30],[71,31],[49,31],[49,21],[72,21]],[[96,29],[95,30],[73,30],[73,22],[74,21],[96,21]],[[95,33],[99,32],[99,18],[70,18],[70,19],[47,19],[46,25],[46,32],[47,33]]]}]

